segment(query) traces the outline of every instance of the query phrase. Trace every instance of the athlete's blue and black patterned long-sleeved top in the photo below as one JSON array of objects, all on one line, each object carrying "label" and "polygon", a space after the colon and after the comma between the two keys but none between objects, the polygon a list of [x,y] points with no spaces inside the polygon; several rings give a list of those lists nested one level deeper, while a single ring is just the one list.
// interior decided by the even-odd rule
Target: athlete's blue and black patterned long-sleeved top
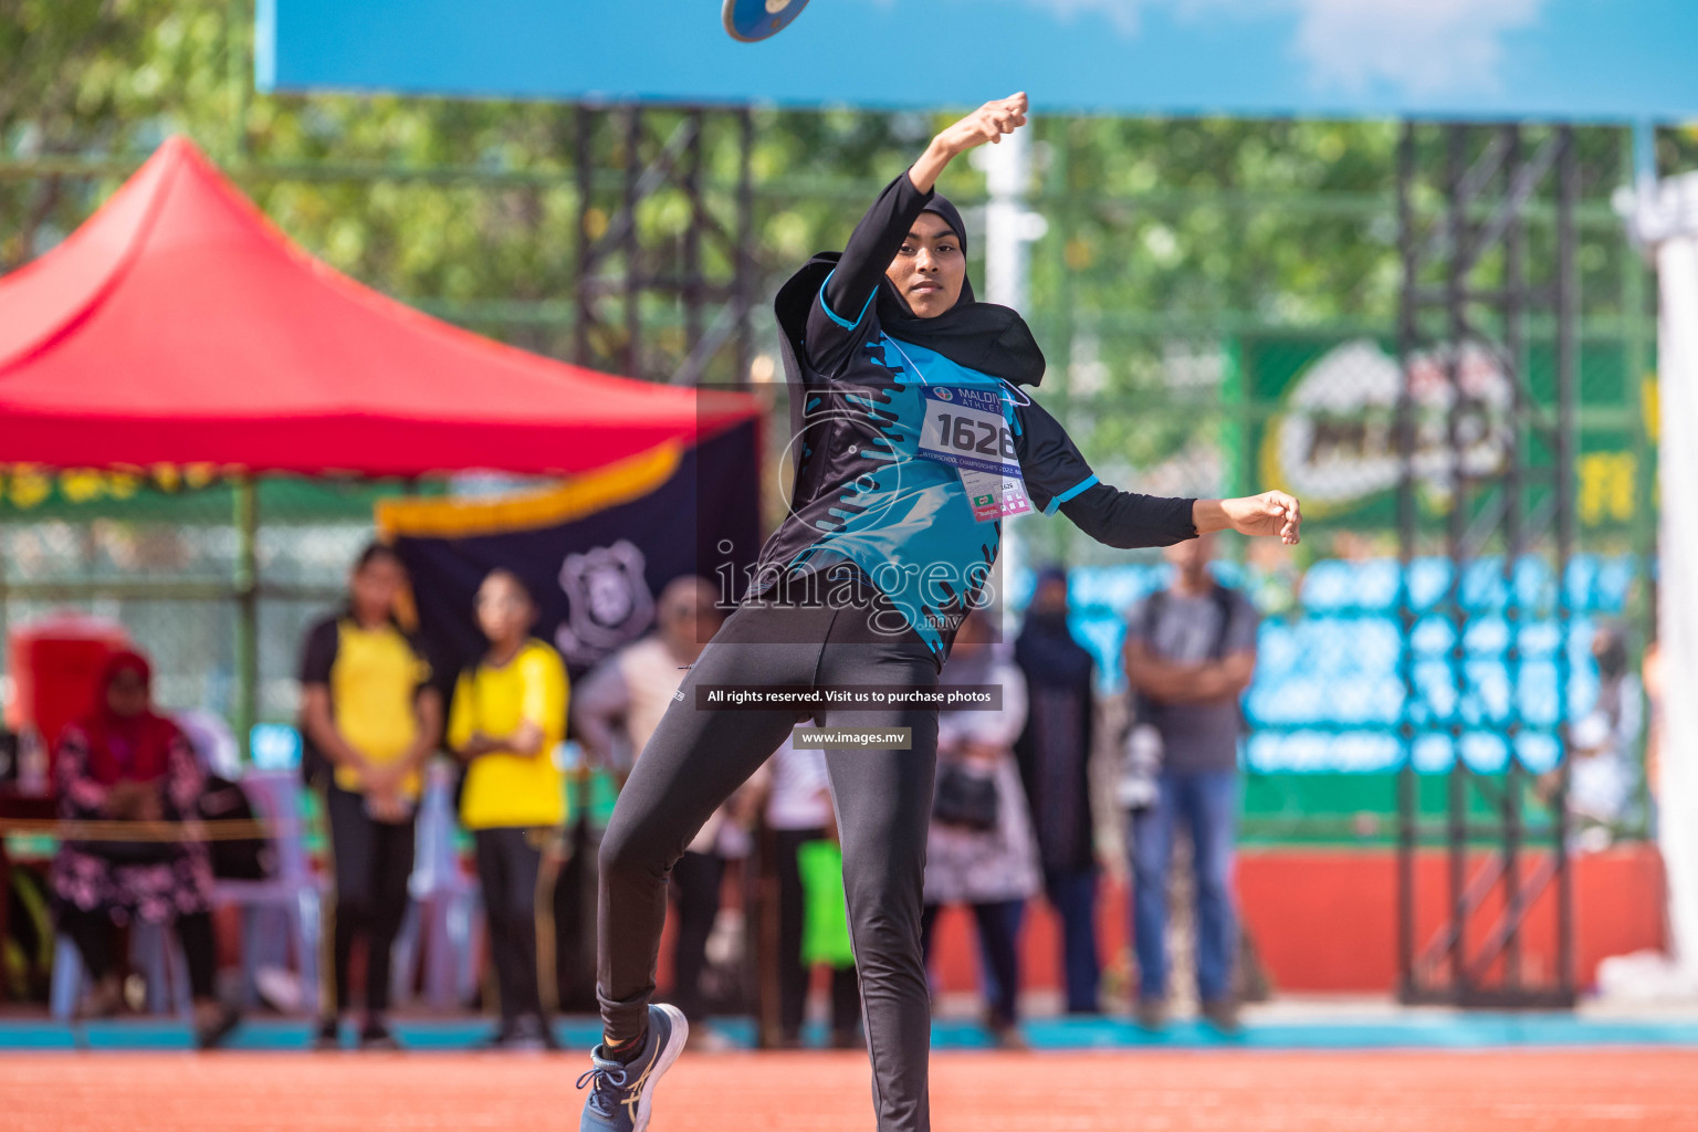
[{"label": "athlete's blue and black patterned long-sleeved top", "polygon": [[[937,333],[900,317],[907,309],[885,268],[931,199],[902,173],[842,256],[815,256],[779,289],[796,472],[790,514],[762,546],[751,592],[784,574],[849,562],[941,665],[997,560],[1002,524],[976,521],[956,468],[919,455],[927,385],[995,392],[1034,509],[1060,509],[1092,538],[1122,548],[1167,546],[1197,531],[1192,499],[1138,496],[1097,480],[1056,419],[1027,395],[1043,378],[1043,356],[1014,311],[973,304],[971,319],[958,317],[971,302],[964,290],[954,311],[925,321],[937,322]],[[893,336],[886,322],[912,328],[910,338],[925,345]]]}]

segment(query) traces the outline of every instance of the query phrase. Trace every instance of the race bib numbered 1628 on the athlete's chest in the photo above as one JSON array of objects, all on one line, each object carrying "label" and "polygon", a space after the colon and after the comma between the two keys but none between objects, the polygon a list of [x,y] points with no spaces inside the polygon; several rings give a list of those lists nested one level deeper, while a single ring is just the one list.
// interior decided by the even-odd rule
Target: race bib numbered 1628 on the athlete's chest
[{"label": "race bib numbered 1628 on the athlete's chest", "polygon": [[980,523],[1032,509],[997,389],[927,385],[920,455],[956,470]]}]

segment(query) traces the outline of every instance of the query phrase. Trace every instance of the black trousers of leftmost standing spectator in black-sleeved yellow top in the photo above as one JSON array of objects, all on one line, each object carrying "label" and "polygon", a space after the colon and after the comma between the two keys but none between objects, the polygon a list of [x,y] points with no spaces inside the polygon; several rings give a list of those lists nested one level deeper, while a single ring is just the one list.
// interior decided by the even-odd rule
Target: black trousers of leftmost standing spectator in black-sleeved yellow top
[{"label": "black trousers of leftmost standing spectator in black-sleeved yellow top", "polygon": [[324,1012],[341,1013],[348,1001],[353,944],[365,939],[365,1010],[389,1010],[389,964],[396,933],[408,915],[408,877],[413,876],[414,825],[374,821],[365,798],[331,784],[324,811],[336,877],[331,972],[335,998]]}]

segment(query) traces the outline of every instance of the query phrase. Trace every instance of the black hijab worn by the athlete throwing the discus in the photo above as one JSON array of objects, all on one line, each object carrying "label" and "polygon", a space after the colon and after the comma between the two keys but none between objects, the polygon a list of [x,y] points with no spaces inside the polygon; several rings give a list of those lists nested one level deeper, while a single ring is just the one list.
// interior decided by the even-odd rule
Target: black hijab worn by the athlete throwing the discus
[{"label": "black hijab worn by the athlete throwing the discus", "polygon": [[[924,212],[941,216],[961,241],[966,255],[966,224],[959,209],[947,197],[934,193]],[[778,321],[791,343],[800,345],[807,326],[808,305],[825,283],[825,275],[837,266],[841,253],[822,251],[790,277],[778,290]],[[1044,380],[1044,355],[1037,339],[1017,311],[993,302],[978,302],[973,280],[961,280],[961,297],[934,319],[922,319],[908,309],[888,278],[878,283],[878,321],[885,333],[915,346],[941,353],[956,365],[1000,377],[1015,385],[1037,385]],[[796,350],[796,356],[803,356]]]}]

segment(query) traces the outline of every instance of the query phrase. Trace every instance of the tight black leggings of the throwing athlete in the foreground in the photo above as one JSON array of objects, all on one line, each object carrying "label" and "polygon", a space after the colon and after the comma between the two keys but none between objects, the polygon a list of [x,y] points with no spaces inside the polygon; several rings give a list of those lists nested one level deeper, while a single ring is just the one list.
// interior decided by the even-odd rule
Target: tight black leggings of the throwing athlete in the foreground
[{"label": "tight black leggings of the throwing athlete in the foreground", "polygon": [[[713,811],[803,721],[790,709],[698,708],[700,684],[931,689],[937,667],[912,633],[876,633],[866,608],[744,604],[725,621],[637,757],[601,842],[596,993],[615,1042],[635,1039],[645,1025],[667,876]],[[900,704],[827,708],[818,721],[910,728],[908,750],[829,750],[825,765],[844,847],[878,1127],[925,1132],[931,1003],[920,959],[920,898],[937,713]]]}]

